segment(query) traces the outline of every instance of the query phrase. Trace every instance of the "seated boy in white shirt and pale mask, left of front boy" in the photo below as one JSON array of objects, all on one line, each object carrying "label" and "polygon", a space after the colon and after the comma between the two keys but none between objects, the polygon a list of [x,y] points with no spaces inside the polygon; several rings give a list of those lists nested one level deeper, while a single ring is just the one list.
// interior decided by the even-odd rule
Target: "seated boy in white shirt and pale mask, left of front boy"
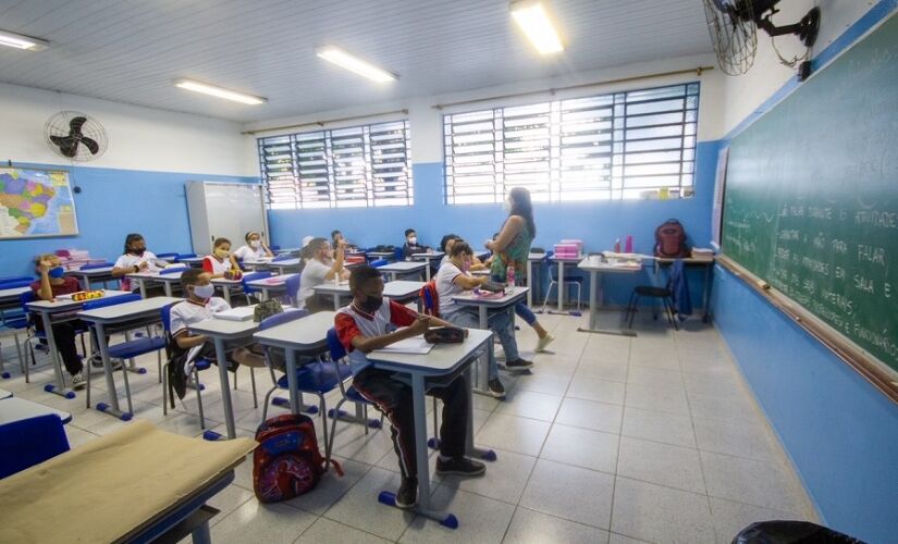
[{"label": "seated boy in white shirt and pale mask, left of front boy", "polygon": [[[169,383],[179,398],[184,398],[187,375],[194,360],[202,358],[218,364],[214,344],[206,336],[188,331],[190,325],[210,319],[213,313],[231,309],[231,305],[223,298],[212,296],[216,286],[211,280],[211,274],[205,270],[185,270],[181,274],[181,288],[186,300],[177,302],[171,309],[172,363],[169,364]],[[200,346],[199,349],[192,351],[197,346]],[[229,370],[236,371],[237,364],[229,364]]]}]

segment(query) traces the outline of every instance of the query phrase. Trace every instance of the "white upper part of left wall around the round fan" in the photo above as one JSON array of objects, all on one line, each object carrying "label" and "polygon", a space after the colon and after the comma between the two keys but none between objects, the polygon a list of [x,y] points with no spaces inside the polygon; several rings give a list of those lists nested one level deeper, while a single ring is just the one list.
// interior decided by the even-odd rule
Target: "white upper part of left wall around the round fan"
[{"label": "white upper part of left wall around the round fan", "polygon": [[62,92],[0,84],[0,160],[69,164],[44,139],[53,113],[75,110],[97,119],[109,136],[106,153],[85,166],[220,175],[259,175],[241,125]]}]

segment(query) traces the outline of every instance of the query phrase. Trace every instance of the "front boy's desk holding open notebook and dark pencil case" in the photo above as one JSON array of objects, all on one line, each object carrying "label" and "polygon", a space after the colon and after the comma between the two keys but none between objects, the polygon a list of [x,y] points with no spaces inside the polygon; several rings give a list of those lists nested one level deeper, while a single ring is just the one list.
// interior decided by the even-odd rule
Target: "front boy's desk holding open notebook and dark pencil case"
[{"label": "front boy's desk holding open notebook and dark pencil case", "polygon": [[[521,293],[521,296],[524,294]],[[302,321],[302,320],[300,320]],[[477,329],[468,330],[468,337],[462,344],[439,344],[427,356],[396,354],[374,350],[368,360],[376,369],[406,374],[411,380],[411,398],[415,411],[415,455],[418,465],[418,504],[411,510],[426,518],[439,521],[451,529],[458,527],[458,519],[450,512],[431,509],[430,463],[428,462],[427,436],[427,387],[429,378],[440,378],[464,371],[470,382],[470,364],[483,347],[492,347],[493,333]],[[495,460],[495,452],[480,449],[473,445],[473,401],[468,390],[467,454],[488,460]],[[434,430],[434,432],[439,432]],[[395,505],[392,493],[381,493],[381,503]]]}]

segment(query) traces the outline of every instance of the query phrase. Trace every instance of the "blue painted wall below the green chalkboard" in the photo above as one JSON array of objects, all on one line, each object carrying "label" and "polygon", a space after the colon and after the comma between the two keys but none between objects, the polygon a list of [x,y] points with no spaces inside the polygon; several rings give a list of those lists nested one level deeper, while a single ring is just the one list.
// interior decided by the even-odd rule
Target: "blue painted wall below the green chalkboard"
[{"label": "blue painted wall below the green chalkboard", "polygon": [[712,293],[717,329],[824,523],[898,541],[898,407],[719,267]]}]

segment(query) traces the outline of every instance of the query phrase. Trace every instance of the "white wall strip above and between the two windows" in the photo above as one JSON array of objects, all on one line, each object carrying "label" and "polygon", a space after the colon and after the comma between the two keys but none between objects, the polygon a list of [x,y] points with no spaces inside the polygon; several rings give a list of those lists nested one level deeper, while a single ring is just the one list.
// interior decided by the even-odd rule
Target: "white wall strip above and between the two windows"
[{"label": "white wall strip above and between the two windows", "polygon": [[[499,87],[488,87],[466,92],[456,92],[452,95],[443,95],[435,97],[414,98],[397,102],[377,103],[365,108],[352,108],[335,111],[320,112],[315,115],[303,115],[295,118],[278,119],[260,123],[250,123],[245,125],[245,131],[261,131],[255,135],[247,136],[247,154],[251,153],[254,160],[257,161],[255,173],[258,175],[258,159],[256,154],[256,138],[262,136],[272,136],[276,134],[288,134],[299,132],[316,131],[316,126],[302,126],[293,128],[281,128],[275,131],[265,131],[265,128],[280,127],[287,125],[298,125],[304,123],[317,123],[319,121],[328,121],[333,119],[345,119],[358,115],[370,115],[373,113],[389,112],[396,110],[408,110],[405,115],[401,112],[388,115],[372,116],[367,119],[357,119],[349,121],[342,121],[329,123],[327,128],[337,128],[341,126],[354,126],[359,124],[374,123],[378,121],[395,121],[407,118],[411,124],[411,160],[413,162],[442,162],[443,161],[443,115],[453,112],[475,111],[500,106],[514,106],[540,102],[552,99],[549,92],[540,92],[516,98],[500,98],[490,101],[476,102],[470,104],[462,104],[444,108],[438,110],[433,108],[435,104],[446,104],[452,102],[459,102],[464,100],[475,100],[496,96],[513,95],[517,92],[544,91],[551,88],[567,87],[571,85],[583,85],[594,82],[607,82],[614,79],[624,79],[628,77],[641,77],[651,74],[661,74],[668,72],[676,72],[681,70],[693,70],[699,66],[715,66],[713,57],[698,55],[684,57],[678,59],[665,59],[656,62],[647,62],[639,64],[629,64],[614,69],[582,72],[571,74],[565,77],[556,77],[552,79],[533,79],[528,82],[519,82],[510,85],[503,85]],[[555,98],[571,98],[590,95],[601,95],[617,90],[639,89],[647,87],[656,87],[661,85],[682,83],[682,82],[701,82],[701,98],[699,110],[699,139],[712,140],[717,139],[724,135],[723,127],[723,84],[724,76],[719,70],[712,70],[704,72],[701,76],[697,76],[694,72],[681,75],[659,76],[645,79],[636,79],[629,82],[622,82],[616,84],[600,84],[594,87],[578,88],[566,91],[558,91]]]}]

